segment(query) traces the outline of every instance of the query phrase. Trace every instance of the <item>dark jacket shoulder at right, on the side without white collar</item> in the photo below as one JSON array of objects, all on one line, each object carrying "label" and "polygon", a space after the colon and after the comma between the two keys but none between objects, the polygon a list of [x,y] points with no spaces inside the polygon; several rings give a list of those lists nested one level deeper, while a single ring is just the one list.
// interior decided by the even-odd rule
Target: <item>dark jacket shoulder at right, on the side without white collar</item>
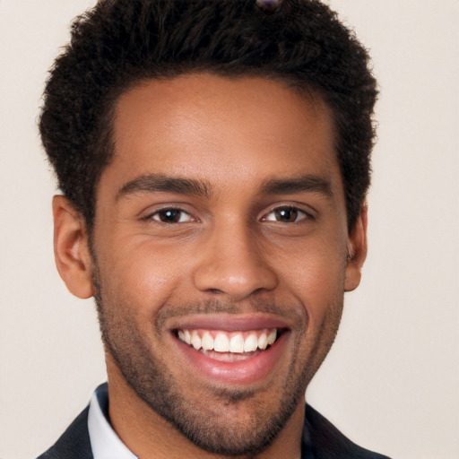
[{"label": "dark jacket shoulder at right, on the side without white collar", "polygon": [[315,459],[389,459],[351,442],[309,405],[305,411],[304,437],[305,446],[314,452]]}]

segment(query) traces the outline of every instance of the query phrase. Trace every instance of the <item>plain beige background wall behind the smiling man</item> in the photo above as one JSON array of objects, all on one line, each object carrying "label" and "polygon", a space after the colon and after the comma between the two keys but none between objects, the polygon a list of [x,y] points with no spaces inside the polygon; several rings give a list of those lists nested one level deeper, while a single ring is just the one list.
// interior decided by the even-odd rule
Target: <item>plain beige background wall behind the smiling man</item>
[{"label": "plain beige background wall behind the smiling man", "polygon": [[[333,0],[381,86],[369,255],[307,391],[362,446],[459,457],[459,2]],[[46,71],[91,0],[0,0],[0,457],[46,449],[105,379],[91,300],[52,254],[36,129]]]}]

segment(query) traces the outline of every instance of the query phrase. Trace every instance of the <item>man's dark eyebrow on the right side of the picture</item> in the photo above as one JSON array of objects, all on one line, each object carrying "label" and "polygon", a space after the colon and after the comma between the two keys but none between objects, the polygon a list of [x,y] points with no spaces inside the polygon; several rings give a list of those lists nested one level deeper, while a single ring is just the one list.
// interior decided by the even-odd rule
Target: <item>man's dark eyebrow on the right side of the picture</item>
[{"label": "man's dark eyebrow on the right side of the picture", "polygon": [[330,180],[317,176],[302,176],[299,178],[280,178],[267,180],[262,186],[266,195],[289,195],[290,193],[318,193],[333,197]]}]

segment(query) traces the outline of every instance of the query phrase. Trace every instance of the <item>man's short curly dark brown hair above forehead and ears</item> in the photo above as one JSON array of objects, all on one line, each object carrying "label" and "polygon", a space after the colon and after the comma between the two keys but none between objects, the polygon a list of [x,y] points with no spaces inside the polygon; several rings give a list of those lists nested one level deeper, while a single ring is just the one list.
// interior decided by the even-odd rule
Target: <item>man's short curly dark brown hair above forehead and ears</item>
[{"label": "man's short curly dark brown hair above forehead and ears", "polygon": [[273,78],[324,98],[351,229],[370,181],[377,83],[367,50],[318,0],[284,0],[275,13],[255,0],[100,0],[78,17],[50,70],[39,130],[89,229],[119,95],[146,79],[201,71]]}]

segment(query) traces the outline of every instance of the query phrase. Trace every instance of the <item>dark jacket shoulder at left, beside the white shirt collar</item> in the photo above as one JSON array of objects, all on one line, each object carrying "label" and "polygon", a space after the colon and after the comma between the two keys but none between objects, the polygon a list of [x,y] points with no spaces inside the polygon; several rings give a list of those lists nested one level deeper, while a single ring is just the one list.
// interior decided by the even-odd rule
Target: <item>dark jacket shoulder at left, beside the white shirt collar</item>
[{"label": "dark jacket shoulder at left, beside the white shirt collar", "polygon": [[93,459],[88,431],[88,411],[86,407],[64,434],[38,459]]}]

